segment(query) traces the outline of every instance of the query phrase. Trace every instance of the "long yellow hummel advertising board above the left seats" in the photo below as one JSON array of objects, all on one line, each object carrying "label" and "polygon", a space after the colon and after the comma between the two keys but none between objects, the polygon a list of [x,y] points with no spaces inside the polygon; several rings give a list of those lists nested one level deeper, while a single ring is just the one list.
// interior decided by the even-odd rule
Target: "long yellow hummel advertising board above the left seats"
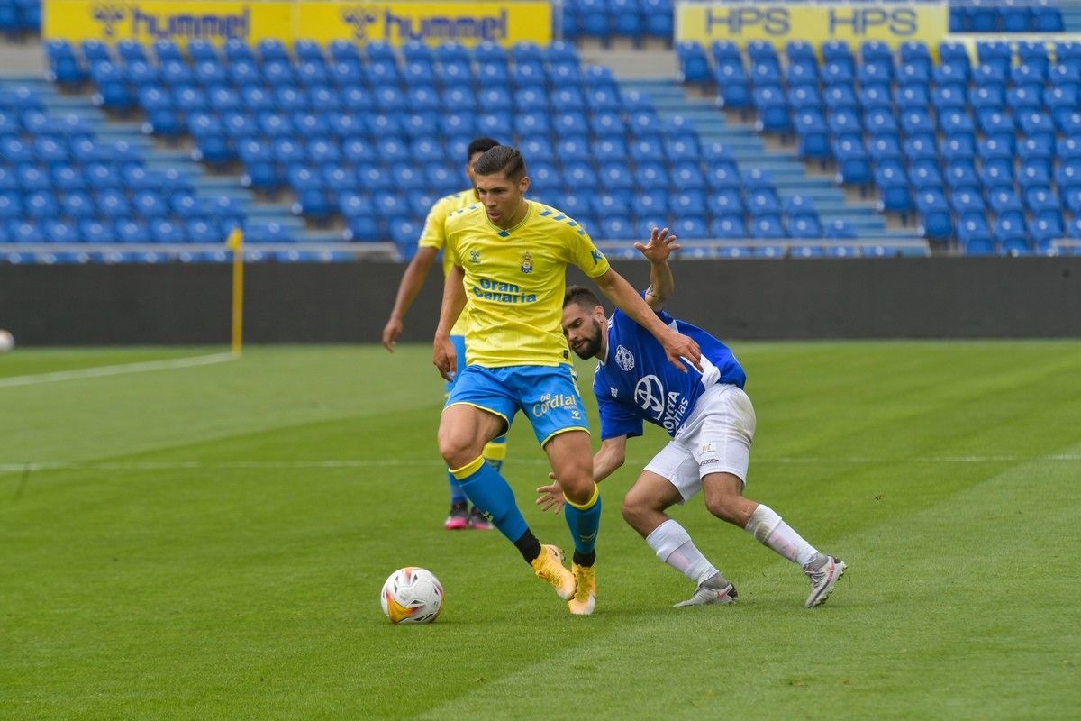
[{"label": "long yellow hummel advertising board above the left seats", "polygon": [[551,42],[548,2],[45,0],[46,40]]}]

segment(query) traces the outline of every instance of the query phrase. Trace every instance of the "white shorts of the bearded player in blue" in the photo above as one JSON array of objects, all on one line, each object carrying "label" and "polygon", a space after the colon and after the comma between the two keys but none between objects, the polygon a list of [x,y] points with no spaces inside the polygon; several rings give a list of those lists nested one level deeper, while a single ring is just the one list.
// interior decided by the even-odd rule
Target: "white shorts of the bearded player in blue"
[{"label": "white shorts of the bearded player in blue", "polygon": [[686,503],[709,473],[732,473],[747,485],[755,406],[738,386],[711,386],[698,397],[676,438],[645,470],[668,479]]}]

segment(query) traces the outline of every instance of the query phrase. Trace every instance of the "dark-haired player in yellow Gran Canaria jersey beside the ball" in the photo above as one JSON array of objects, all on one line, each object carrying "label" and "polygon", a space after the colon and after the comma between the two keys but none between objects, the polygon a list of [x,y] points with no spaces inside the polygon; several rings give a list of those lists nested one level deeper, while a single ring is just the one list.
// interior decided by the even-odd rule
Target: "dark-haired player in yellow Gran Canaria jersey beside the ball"
[{"label": "dark-haired player in yellow Gran Canaria jersey beside the ball", "polygon": [[[688,362],[698,368],[700,351],[609,267],[582,226],[525,199],[530,179],[517,149],[488,150],[473,165],[473,185],[479,202],[446,219],[454,265],[443,289],[432,362],[456,383],[440,419],[439,451],[469,499],[569,602],[571,613],[590,614],[597,602],[601,502],[586,411],[560,325],[566,266],[574,264],[592,278],[617,308],[660,342],[680,370],[685,372]],[[463,309],[470,323],[465,362],[450,339]],[[533,535],[510,485],[481,454],[485,443],[507,431],[518,411],[529,417],[566,499],[574,539],[570,572],[562,551],[542,546]]]}]

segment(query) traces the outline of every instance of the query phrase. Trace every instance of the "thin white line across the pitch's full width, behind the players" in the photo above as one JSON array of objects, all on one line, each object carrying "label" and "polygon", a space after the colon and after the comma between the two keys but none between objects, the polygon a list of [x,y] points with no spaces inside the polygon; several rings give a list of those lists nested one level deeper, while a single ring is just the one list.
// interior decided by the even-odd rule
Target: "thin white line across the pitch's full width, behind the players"
[{"label": "thin white line across the pitch's full width, behind the players", "polygon": [[[1017,455],[993,455],[993,456],[937,456],[937,457],[913,457],[913,458],[822,458],[822,457],[776,457],[756,458],[752,463],[762,464],[873,464],[873,463],[1018,463],[1027,460],[1055,460],[1063,463],[1081,462],[1081,454],[1059,453],[1045,456],[1017,456]],[[646,463],[646,458],[639,459],[638,465]],[[518,458],[516,464],[528,464],[543,466],[547,465],[545,458]],[[632,462],[635,463],[635,462]],[[342,459],[342,460],[131,460],[131,462],[72,462],[72,463],[25,463],[25,464],[0,464],[0,472],[14,473],[19,471],[38,470],[184,470],[184,469],[215,469],[215,468],[237,468],[237,469],[289,469],[289,468],[387,468],[387,467],[425,467],[441,466],[438,459],[401,459],[401,458],[373,458],[373,459]]]}]

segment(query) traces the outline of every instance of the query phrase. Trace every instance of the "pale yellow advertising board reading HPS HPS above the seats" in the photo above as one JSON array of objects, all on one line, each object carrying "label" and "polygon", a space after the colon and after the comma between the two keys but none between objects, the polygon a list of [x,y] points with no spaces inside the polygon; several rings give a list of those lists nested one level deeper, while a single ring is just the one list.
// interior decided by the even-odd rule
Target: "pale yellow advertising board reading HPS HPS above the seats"
[{"label": "pale yellow advertising board reading HPS HPS above the seats", "polygon": [[891,45],[913,40],[936,46],[948,31],[945,2],[680,2],[676,6],[676,40],[707,45],[715,40],[740,45],[752,40],[775,44],[803,40],[815,45],[830,40],[881,40]]}]

